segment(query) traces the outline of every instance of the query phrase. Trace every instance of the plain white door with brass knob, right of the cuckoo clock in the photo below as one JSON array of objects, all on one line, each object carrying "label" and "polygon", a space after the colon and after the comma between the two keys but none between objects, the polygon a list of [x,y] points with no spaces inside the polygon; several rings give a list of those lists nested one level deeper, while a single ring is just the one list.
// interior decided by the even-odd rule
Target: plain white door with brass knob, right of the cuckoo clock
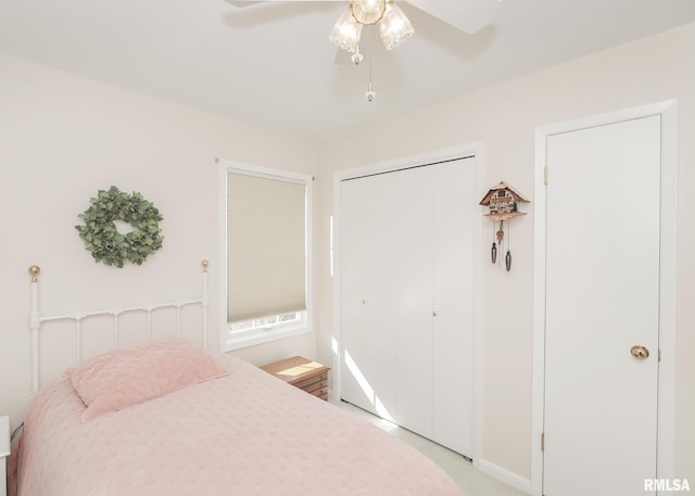
[{"label": "plain white door with brass knob, right of the cuckoo clock", "polygon": [[543,494],[644,495],[657,467],[660,116],[546,145]]}]

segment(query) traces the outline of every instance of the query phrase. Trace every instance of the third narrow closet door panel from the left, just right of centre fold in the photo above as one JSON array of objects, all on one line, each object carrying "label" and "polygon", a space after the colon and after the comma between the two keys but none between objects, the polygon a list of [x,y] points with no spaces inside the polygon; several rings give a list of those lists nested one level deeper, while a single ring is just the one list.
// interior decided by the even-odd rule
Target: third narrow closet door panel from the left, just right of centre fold
[{"label": "third narrow closet door panel from the left, just right of centre fold", "polygon": [[432,175],[399,173],[397,420],[432,431]]}]

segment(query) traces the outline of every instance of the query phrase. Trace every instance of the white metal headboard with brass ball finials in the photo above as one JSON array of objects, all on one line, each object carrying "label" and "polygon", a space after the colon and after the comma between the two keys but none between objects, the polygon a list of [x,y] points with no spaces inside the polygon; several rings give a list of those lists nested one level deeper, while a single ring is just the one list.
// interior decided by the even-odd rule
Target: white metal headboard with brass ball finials
[{"label": "white metal headboard with brass ball finials", "polygon": [[31,331],[31,395],[39,390],[39,330],[41,323],[54,320],[74,320],[75,321],[75,356],[77,363],[81,361],[81,327],[80,322],[86,317],[93,316],[111,316],[113,318],[113,345],[118,347],[118,316],[129,311],[147,311],[147,339],[152,339],[152,311],[159,308],[176,308],[176,329],[177,333],[181,333],[181,308],[187,305],[201,305],[203,314],[203,348],[207,348],[207,260],[202,262],[203,290],[202,296],[198,300],[178,300],[176,302],[144,304],[131,307],[114,307],[106,310],[97,311],[73,311],[72,314],[41,316],[39,311],[39,274],[41,269],[33,265],[29,267],[31,275],[31,303],[29,306],[29,330]]}]

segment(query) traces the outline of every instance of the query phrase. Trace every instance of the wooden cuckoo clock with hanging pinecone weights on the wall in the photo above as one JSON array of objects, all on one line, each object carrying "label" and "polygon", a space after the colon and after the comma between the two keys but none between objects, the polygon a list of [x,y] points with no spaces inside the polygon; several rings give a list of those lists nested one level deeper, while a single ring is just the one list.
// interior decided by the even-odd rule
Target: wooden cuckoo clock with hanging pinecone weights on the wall
[{"label": "wooden cuckoo clock with hanging pinecone weights on the wall", "polygon": [[[507,271],[511,270],[511,252],[509,251],[509,220],[520,215],[526,215],[525,212],[519,212],[517,205],[520,202],[528,202],[521,193],[514,190],[509,185],[502,181],[498,185],[493,186],[488,193],[480,201],[480,204],[486,206],[489,213],[485,214],[490,220],[492,220],[492,247],[490,249],[490,257],[492,263],[497,262],[497,251],[503,252],[504,244],[504,229],[507,221],[507,253],[504,257],[505,267]],[[498,228],[497,228],[498,222]]]}]

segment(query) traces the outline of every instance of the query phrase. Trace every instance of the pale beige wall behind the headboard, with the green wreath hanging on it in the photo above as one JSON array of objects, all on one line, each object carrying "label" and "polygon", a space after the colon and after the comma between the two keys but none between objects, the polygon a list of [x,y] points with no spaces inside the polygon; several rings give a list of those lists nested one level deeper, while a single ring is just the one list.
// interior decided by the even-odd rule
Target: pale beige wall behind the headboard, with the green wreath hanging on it
[{"label": "pale beige wall behind the headboard, with the green wreath hanging on it", "polygon": [[[31,264],[42,269],[41,307],[52,315],[197,297],[200,262],[208,259],[208,339],[218,348],[215,157],[315,175],[317,144],[0,55],[0,412],[13,425],[30,389]],[[142,266],[94,263],[74,228],[89,199],[111,185],[141,192],[164,217],[164,246]],[[72,328],[54,335],[65,331],[47,338],[45,381],[70,365]],[[110,342],[90,333],[85,353]],[[261,364],[314,353],[314,335],[304,334],[238,355]]]}]

